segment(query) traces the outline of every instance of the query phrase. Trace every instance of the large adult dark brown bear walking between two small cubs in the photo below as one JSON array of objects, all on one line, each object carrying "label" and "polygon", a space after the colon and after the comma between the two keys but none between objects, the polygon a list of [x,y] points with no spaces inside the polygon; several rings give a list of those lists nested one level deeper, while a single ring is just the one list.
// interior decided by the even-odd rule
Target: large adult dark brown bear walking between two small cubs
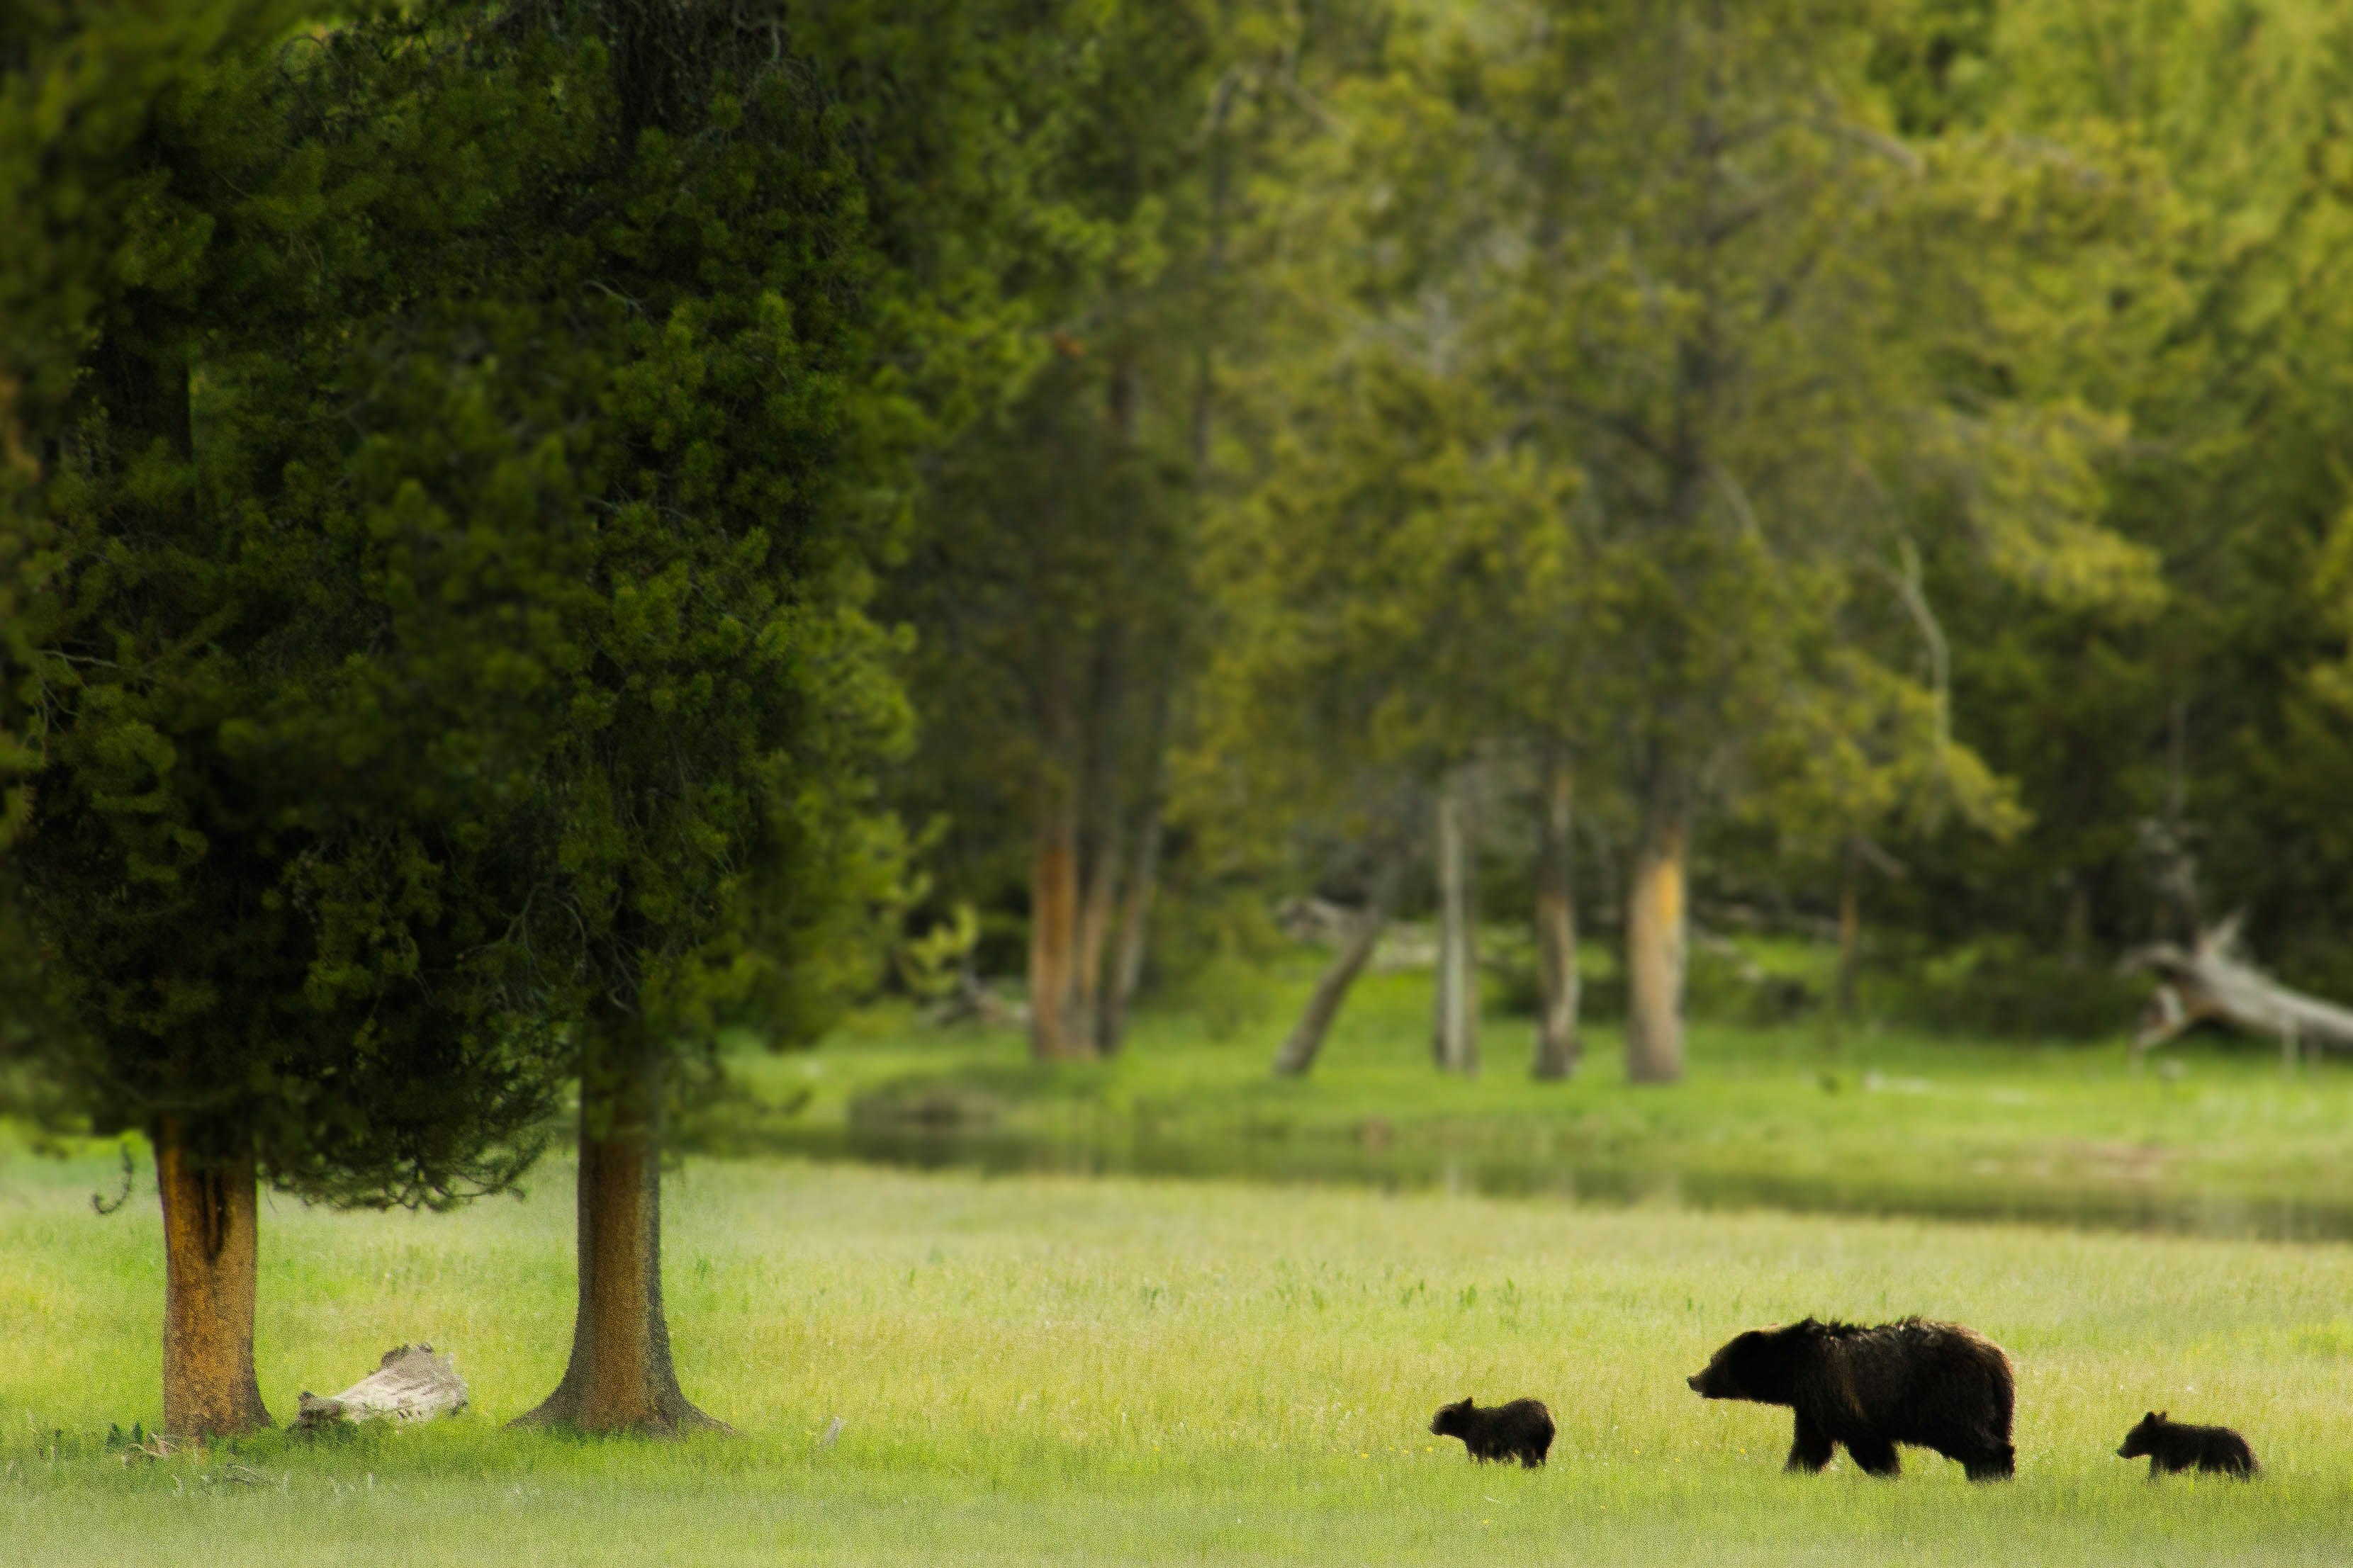
[{"label": "large adult dark brown bear walking between two small cubs", "polygon": [[1689,1382],[1704,1399],[1791,1406],[1798,1413],[1791,1469],[1821,1469],[1835,1443],[1873,1476],[1901,1469],[1897,1443],[1960,1460],[1972,1481],[1998,1481],[2019,1467],[2009,1446],[2017,1401],[2009,1356],[1960,1324],[1908,1316],[1878,1328],[1814,1319],[1751,1328]]}]

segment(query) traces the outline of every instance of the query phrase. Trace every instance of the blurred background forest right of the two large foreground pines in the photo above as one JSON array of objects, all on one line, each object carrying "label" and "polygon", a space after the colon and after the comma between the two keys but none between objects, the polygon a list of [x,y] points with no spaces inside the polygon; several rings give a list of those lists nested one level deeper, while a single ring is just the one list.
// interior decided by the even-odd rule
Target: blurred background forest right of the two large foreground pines
[{"label": "blurred background forest right of the two large foreground pines", "polygon": [[1087,169],[1148,266],[1042,306],[885,595],[929,910],[1042,1053],[1273,896],[1442,912],[1452,797],[1553,1072],[1581,922],[1673,1074],[1692,900],[1967,1027],[2122,1027],[2231,912],[2353,990],[2332,7],[1198,26]]}]

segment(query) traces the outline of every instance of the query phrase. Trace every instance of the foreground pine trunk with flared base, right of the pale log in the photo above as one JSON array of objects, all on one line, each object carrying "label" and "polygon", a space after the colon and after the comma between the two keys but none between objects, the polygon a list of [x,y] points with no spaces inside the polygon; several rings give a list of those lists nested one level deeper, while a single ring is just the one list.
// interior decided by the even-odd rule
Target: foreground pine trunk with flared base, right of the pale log
[{"label": "foreground pine trunk with flared base, right of the pale log", "polygon": [[581,1072],[579,1307],[565,1380],[518,1427],[725,1432],[687,1403],[661,1309],[661,1063],[633,1020]]}]

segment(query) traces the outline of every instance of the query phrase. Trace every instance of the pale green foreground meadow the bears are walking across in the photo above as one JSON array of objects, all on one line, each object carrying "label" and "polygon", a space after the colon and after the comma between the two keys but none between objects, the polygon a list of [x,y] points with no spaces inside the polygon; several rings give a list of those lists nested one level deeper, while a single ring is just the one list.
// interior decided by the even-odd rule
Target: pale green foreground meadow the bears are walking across
[{"label": "pale green foreground meadow the bears are walking across", "polygon": [[[158,1415],[160,1237],[148,1182],[89,1213],[108,1180],[0,1164],[7,1563],[2329,1563],[2353,1526],[2337,1246],[793,1161],[671,1192],[680,1371],[741,1439],[499,1429],[562,1366],[551,1171],[456,1215],[264,1220],[280,1415],[419,1338],[471,1413],[125,1467],[94,1436]],[[1998,1338],[2019,1481],[1791,1479],[1784,1410],[1685,1392],[1802,1312]],[[1466,1392],[1551,1401],[1553,1465],[1431,1439]],[[2148,1406],[2240,1425],[2266,1476],[2146,1483],[2111,1450]]]}]

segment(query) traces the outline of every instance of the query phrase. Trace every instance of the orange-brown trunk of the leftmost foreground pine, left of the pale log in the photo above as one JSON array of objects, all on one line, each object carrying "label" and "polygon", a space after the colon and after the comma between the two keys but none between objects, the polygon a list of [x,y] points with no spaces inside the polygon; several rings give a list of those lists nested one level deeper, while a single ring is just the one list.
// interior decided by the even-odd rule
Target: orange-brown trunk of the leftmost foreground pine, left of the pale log
[{"label": "orange-brown trunk of the leftmost foreground pine, left of the pale log", "polygon": [[155,1126],[162,1194],[162,1429],[233,1436],[271,1425],[254,1380],[261,1246],[254,1157],[205,1161],[172,1117]]}]

